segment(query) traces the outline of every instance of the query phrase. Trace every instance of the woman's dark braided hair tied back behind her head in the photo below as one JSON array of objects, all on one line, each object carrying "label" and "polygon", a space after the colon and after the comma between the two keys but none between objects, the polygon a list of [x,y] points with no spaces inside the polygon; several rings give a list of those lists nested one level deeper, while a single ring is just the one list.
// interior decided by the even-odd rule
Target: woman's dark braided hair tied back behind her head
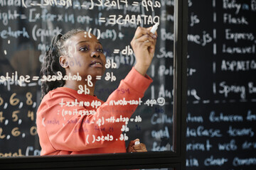
[{"label": "woman's dark braided hair tied back behind her head", "polygon": [[[46,55],[43,59],[42,68],[40,71],[40,76],[43,77],[45,75],[46,77],[50,76],[57,76],[58,72],[61,72],[62,75],[65,75],[65,69],[60,65],[59,57],[61,55],[67,54],[66,47],[64,45],[64,42],[71,38],[73,35],[76,35],[77,33],[80,33],[82,29],[73,29],[68,31],[68,33],[65,33],[65,35],[58,34],[53,37],[53,40],[50,43],[49,49],[46,51]],[[58,87],[64,86],[65,80],[55,80],[55,81],[42,81],[41,84],[41,92],[42,92],[42,98],[46,94],[48,94],[49,91],[56,89]]]}]

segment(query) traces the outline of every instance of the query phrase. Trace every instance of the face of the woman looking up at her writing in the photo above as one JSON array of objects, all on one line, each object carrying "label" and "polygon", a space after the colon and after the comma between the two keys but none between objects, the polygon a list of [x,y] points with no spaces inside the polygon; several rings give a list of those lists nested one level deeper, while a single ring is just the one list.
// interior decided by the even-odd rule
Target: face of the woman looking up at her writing
[{"label": "face of the woman looking up at her writing", "polygon": [[[79,73],[82,77],[102,76],[105,72],[106,57],[95,35],[77,33],[65,41],[67,62],[71,74]],[[67,72],[68,73],[68,72]]]}]

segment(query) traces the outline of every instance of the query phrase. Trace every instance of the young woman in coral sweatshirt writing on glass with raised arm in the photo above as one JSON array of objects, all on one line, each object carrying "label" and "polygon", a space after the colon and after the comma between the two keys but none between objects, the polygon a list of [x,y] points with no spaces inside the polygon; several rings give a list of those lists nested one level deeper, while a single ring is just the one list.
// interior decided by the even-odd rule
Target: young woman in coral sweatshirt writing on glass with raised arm
[{"label": "young woman in coral sweatshirt writing on glass with raised arm", "polygon": [[[146,71],[156,35],[149,30],[137,28],[131,42],[137,62],[106,102],[94,95],[106,63],[95,35],[70,30],[53,38],[41,69],[43,99],[36,118],[41,155],[146,151],[144,144],[134,145],[137,140],[126,149],[121,134],[152,81]],[[114,103],[119,100],[125,104]]]}]

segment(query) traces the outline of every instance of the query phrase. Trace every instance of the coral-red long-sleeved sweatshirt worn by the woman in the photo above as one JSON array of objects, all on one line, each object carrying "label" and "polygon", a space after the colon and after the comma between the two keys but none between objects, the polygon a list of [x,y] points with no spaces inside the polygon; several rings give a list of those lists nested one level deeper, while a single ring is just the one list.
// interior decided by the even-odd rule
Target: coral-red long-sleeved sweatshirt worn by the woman
[{"label": "coral-red long-sleeved sweatshirt worn by the woman", "polygon": [[49,91],[36,113],[41,155],[126,152],[122,128],[151,82],[132,68],[105,103],[66,87]]}]

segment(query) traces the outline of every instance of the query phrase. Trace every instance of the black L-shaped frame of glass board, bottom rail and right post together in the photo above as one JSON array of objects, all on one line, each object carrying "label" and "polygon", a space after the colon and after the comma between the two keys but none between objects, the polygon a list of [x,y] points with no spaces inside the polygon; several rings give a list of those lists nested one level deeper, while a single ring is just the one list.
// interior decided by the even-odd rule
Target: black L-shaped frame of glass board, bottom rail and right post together
[{"label": "black L-shaped frame of glass board, bottom rail and right post together", "polygon": [[1,169],[186,169],[187,0],[176,0],[174,12],[174,152],[9,157]]}]

